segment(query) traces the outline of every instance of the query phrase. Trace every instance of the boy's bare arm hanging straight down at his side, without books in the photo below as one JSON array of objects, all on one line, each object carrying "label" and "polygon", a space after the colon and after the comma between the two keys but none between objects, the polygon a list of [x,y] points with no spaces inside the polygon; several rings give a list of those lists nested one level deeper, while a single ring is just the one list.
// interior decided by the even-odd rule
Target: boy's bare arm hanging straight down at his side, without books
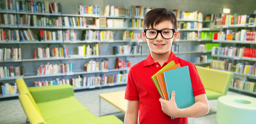
[{"label": "boy's bare arm hanging straight down at his side, without books", "polygon": [[138,100],[128,100],[127,101],[127,110],[124,116],[125,124],[136,124],[138,120]]}]

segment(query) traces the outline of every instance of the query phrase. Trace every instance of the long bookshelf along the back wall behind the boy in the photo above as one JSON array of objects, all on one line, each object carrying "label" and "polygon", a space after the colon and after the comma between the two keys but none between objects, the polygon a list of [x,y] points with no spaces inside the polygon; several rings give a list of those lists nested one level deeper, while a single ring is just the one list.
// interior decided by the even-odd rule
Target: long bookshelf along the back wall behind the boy
[{"label": "long bookshelf along the back wall behind the boy", "polygon": [[[46,3],[47,4],[47,3]],[[56,7],[60,4],[56,3]],[[49,8],[47,8],[49,9]],[[57,10],[56,10],[57,11]],[[29,87],[35,86],[33,82],[39,81],[53,81],[53,80],[65,80],[65,79],[83,79],[84,77],[99,77],[101,75],[115,75],[115,74],[126,74],[129,68],[122,67],[116,69],[115,60],[120,58],[121,60],[128,62],[132,61],[133,64],[138,62],[138,60],[145,59],[149,50],[147,48],[146,42],[142,41],[142,38],[125,37],[124,32],[129,34],[139,36],[142,32],[143,15],[129,15],[129,16],[112,16],[112,15],[100,15],[96,14],[65,14],[61,10],[58,12],[23,12],[14,10],[1,9],[1,14],[6,14],[8,18],[11,14],[12,18],[16,18],[16,23],[0,25],[0,29],[8,30],[7,32],[14,32],[15,38],[0,41],[1,48],[20,48],[19,57],[15,59],[3,59],[1,58],[0,65],[3,67],[20,67],[20,74],[17,76],[3,77],[0,82],[9,83],[10,85],[15,84],[15,80],[22,77]],[[28,18],[29,20],[19,20],[20,18]],[[37,19],[38,18],[38,19]],[[36,21],[35,21],[36,19]],[[11,19],[10,19],[11,20]],[[47,21],[46,21],[47,20]],[[50,21],[51,20],[51,21]],[[73,24],[69,23],[72,20]],[[30,22],[29,22],[30,21]],[[65,22],[66,21],[66,22]],[[86,21],[86,22],[85,22]],[[104,22],[105,21],[105,22]],[[109,22],[107,22],[109,21]],[[116,26],[114,21],[121,21],[122,26]],[[189,19],[178,19],[179,22],[195,22],[200,25],[200,20],[189,20]],[[49,23],[52,22],[52,23]],[[126,23],[127,22],[127,23]],[[129,24],[128,22],[131,22]],[[136,23],[135,23],[136,22]],[[106,26],[107,25],[107,26]],[[109,26],[111,25],[111,26]],[[10,31],[9,31],[10,30]],[[17,31],[18,32],[17,32]],[[193,29],[178,29],[180,32],[201,32],[201,27]],[[20,32],[21,31],[21,32]],[[1,32],[2,33],[2,32]],[[20,34],[23,33],[23,34]],[[21,36],[33,34],[34,36]],[[42,34],[43,33],[43,34]],[[84,35],[89,34],[92,36],[85,37]],[[94,33],[98,33],[99,37],[104,34],[105,37],[95,38]],[[109,34],[108,34],[109,33]],[[50,35],[50,36],[47,36]],[[3,35],[3,34],[1,34]],[[12,34],[11,34],[12,35]],[[111,36],[112,35],[112,36]],[[49,38],[50,37],[50,38]],[[192,45],[198,45],[197,43],[211,42],[211,40],[204,40],[200,38],[194,39],[179,39],[177,43],[181,43],[181,49],[175,51],[176,55],[187,56],[193,60],[193,56],[198,56],[202,54],[210,54],[210,51],[194,50]],[[98,53],[91,55],[79,55],[79,46],[98,46]],[[142,50],[138,53],[129,54],[119,54],[113,52],[114,46],[140,46],[142,45]],[[184,45],[184,46],[183,46]],[[186,49],[189,47],[190,49]],[[48,56],[39,57],[35,55],[35,49],[38,48],[57,48],[60,52],[59,56]],[[63,50],[62,50],[63,49]],[[195,52],[196,51],[196,52]],[[66,53],[65,53],[66,52]],[[62,55],[61,55],[62,53]],[[68,54],[69,55],[68,55]],[[38,54],[38,53],[36,53]],[[102,59],[108,59],[108,69],[105,70],[95,70],[95,71],[84,71],[84,64],[90,60],[100,61]],[[209,62],[204,61],[199,63],[199,61],[191,61],[195,65],[209,65]],[[42,65],[52,64],[70,64],[72,63],[72,69],[69,66],[69,72],[59,72],[59,73],[48,73],[48,74],[38,74],[38,69]],[[66,68],[65,68],[66,69]],[[71,71],[72,70],[72,71]],[[74,90],[79,89],[91,89],[91,88],[101,88],[107,86],[125,85],[126,82],[110,82],[107,84],[98,83],[90,85],[78,85],[74,86]],[[18,94],[3,95],[0,98],[7,97],[17,97]]]}]

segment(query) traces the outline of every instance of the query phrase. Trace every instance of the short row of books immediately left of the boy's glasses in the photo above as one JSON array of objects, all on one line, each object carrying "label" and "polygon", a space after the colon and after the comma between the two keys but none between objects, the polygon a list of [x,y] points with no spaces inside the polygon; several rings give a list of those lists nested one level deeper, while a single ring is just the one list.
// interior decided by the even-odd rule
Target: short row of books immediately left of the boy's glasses
[{"label": "short row of books immediately left of the boy's glasses", "polygon": [[123,40],[136,40],[136,41],[142,41],[142,33],[134,33],[131,31],[125,30],[123,32]]}]

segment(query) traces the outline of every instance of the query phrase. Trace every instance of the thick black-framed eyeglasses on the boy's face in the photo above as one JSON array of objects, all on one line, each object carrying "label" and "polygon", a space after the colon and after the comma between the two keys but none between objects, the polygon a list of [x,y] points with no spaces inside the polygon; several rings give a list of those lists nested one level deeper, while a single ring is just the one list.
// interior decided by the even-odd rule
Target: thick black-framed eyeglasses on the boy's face
[{"label": "thick black-framed eyeglasses on the boy's face", "polygon": [[155,39],[158,33],[161,33],[164,39],[172,39],[175,32],[177,32],[176,29],[144,29],[144,33],[147,39]]}]

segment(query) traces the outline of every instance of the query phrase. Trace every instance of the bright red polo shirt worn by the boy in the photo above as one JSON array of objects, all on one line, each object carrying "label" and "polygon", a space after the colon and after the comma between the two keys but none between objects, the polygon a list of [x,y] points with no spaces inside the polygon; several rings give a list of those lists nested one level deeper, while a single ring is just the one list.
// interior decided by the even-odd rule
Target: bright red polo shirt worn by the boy
[{"label": "bright red polo shirt worn by the boy", "polygon": [[[175,64],[180,63],[181,67],[188,66],[194,96],[206,93],[194,64],[176,57],[174,53],[171,52],[168,61],[165,62],[162,67],[167,65],[171,60],[174,60]],[[147,59],[134,65],[129,71],[125,99],[139,100],[139,124],[188,123],[187,118],[171,119],[170,116],[163,113],[161,109],[161,104],[159,102],[160,95],[155,84],[151,80],[151,76],[162,67],[158,62],[155,63],[153,61],[150,54]]]}]

